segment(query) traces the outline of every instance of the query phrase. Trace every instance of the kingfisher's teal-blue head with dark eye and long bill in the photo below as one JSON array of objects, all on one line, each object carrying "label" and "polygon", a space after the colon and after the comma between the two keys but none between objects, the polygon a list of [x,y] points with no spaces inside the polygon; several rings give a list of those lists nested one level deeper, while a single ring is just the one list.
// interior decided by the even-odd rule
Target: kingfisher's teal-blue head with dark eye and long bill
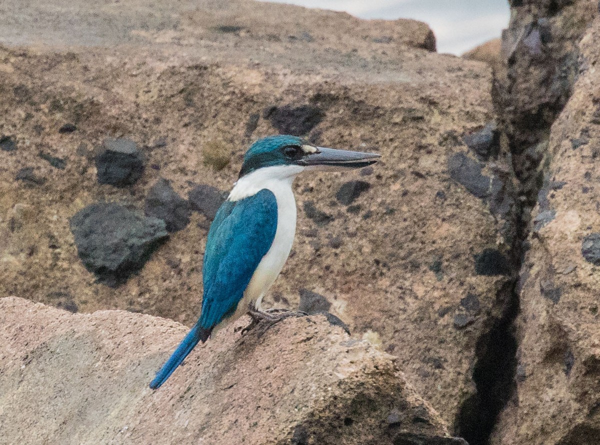
[{"label": "kingfisher's teal-blue head with dark eye and long bill", "polygon": [[289,167],[290,175],[302,170],[340,170],[370,166],[380,155],[318,147],[296,136],[259,139],[244,155],[239,177],[265,167]]}]

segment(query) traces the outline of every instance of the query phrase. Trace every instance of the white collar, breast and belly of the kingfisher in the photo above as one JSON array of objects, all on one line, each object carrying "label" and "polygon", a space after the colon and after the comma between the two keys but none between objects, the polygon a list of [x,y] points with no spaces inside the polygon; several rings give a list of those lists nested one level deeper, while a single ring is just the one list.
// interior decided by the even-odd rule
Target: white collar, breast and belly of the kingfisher
[{"label": "white collar, breast and belly of the kingfisher", "polygon": [[264,188],[271,190],[277,200],[277,230],[271,248],[260,261],[244,292],[244,299],[238,304],[233,315],[248,311],[248,304],[255,302],[257,308],[266,291],[277,279],[292,249],[296,233],[296,199],[292,191],[292,182],[298,173],[304,170],[300,166],[265,167],[252,172],[236,182],[227,198],[237,201],[253,196]]}]

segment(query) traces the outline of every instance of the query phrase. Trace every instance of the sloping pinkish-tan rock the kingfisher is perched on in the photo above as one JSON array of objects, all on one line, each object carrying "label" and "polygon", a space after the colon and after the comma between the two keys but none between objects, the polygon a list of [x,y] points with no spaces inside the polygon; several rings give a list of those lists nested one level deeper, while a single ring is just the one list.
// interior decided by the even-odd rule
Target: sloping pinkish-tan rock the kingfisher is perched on
[{"label": "sloping pinkish-tan rock the kingfisher is perched on", "polygon": [[[391,356],[321,315],[289,318],[263,336],[234,328],[197,347],[153,391],[149,381],[187,326],[127,311],[70,314],[0,299],[2,437],[39,443],[51,436],[61,444],[115,437],[127,443],[464,444],[449,437]],[[166,428],[166,419],[175,418]]]}]

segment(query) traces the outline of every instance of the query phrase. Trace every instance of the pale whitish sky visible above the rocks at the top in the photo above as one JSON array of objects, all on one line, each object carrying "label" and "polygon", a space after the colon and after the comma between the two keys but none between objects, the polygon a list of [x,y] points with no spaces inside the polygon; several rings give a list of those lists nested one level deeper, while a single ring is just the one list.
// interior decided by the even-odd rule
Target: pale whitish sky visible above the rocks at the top
[{"label": "pale whitish sky visible above the rocks at the top", "polygon": [[346,11],[362,19],[417,19],[427,23],[440,53],[461,55],[500,37],[508,26],[508,0],[263,0]]}]

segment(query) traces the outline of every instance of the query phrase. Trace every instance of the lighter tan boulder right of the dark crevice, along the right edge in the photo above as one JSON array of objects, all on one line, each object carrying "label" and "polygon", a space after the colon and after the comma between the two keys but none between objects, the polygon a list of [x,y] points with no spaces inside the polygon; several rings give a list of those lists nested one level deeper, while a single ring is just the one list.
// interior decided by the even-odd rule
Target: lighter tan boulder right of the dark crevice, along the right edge
[{"label": "lighter tan boulder right of the dark crevice, along the right edge", "polygon": [[[587,11],[587,2],[576,3],[572,10]],[[519,286],[516,391],[493,444],[600,444],[599,48],[595,19],[544,152],[545,184]]]}]

